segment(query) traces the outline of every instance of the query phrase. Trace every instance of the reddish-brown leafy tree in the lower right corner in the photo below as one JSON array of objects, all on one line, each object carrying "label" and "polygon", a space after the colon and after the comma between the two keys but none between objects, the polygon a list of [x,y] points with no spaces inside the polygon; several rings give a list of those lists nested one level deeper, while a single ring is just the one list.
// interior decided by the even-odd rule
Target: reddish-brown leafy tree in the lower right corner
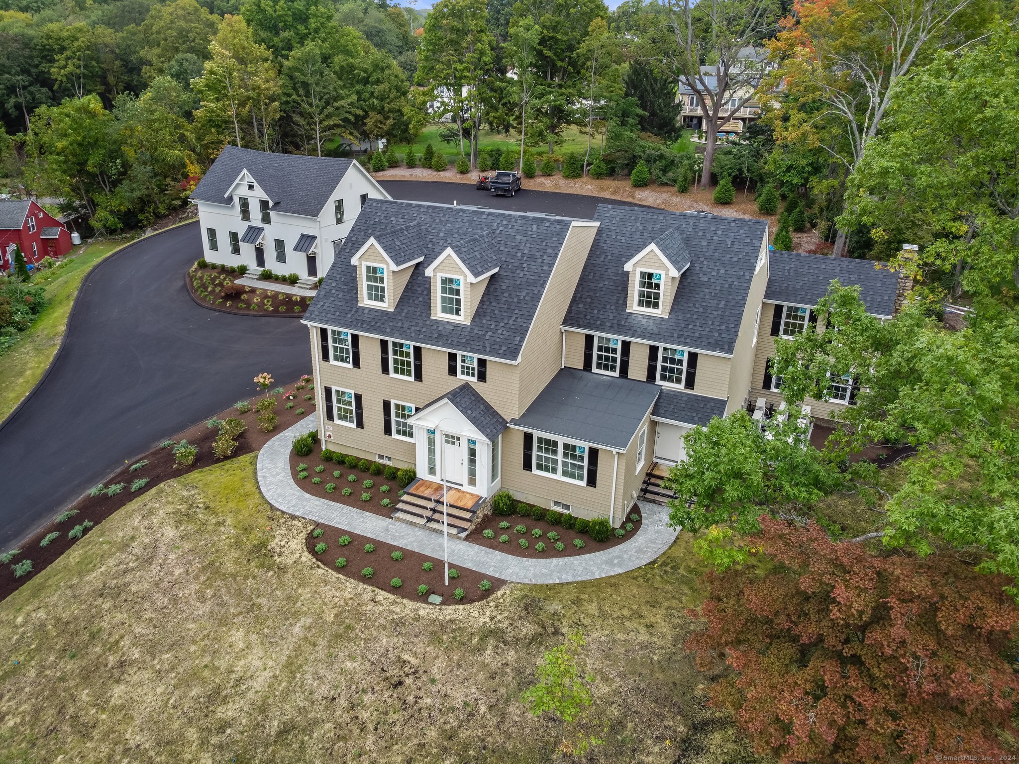
[{"label": "reddish-brown leafy tree in the lower right corner", "polygon": [[[687,649],[735,669],[712,690],[758,753],[792,762],[1006,753],[1019,634],[1004,579],[948,555],[879,557],[761,516],[766,563],[709,574]],[[755,537],[755,541],[758,537]],[[762,560],[763,562],[763,560]]]}]

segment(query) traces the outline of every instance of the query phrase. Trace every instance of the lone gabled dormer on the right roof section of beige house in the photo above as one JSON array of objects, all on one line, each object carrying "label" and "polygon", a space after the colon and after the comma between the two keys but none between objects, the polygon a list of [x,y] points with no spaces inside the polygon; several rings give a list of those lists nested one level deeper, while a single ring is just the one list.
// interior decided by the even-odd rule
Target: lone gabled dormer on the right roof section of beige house
[{"label": "lone gabled dormer on the right roof section of beige house", "polygon": [[680,285],[680,276],[690,267],[690,253],[679,228],[672,228],[631,258],[623,270],[630,274],[627,311],[665,318]]}]

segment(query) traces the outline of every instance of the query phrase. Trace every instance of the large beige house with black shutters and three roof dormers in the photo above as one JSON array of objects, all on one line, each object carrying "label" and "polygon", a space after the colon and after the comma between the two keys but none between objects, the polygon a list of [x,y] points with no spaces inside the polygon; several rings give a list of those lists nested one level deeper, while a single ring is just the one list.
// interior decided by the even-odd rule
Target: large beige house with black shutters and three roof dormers
[{"label": "large beige house with black shutters and three roof dormers", "polygon": [[835,277],[895,301],[872,263],[777,260],[763,220],[370,201],[304,319],[322,444],[619,526],[686,432],[756,397],[773,304]]}]

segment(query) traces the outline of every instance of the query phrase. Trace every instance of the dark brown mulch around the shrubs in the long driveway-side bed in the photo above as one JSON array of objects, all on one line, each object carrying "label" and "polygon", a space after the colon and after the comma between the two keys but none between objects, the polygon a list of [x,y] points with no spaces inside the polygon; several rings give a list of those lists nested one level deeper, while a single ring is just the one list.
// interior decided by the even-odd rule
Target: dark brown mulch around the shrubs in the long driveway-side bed
[{"label": "dark brown mulch around the shrubs in the long driveway-side bed", "polygon": [[[294,390],[296,387],[297,384],[290,384],[287,385],[285,389],[290,391]],[[305,391],[298,392],[299,400],[304,392]],[[264,395],[257,395],[250,398],[249,402],[252,406],[254,406],[255,403],[257,403],[262,397],[264,397]],[[301,403],[306,406],[305,414],[301,415],[297,413],[299,407],[298,405],[294,405],[292,408],[284,407],[285,403],[297,403],[297,400],[284,400],[281,395],[276,395],[275,397],[275,413],[278,417],[278,421],[272,432],[263,432],[261,430],[256,420],[258,413],[254,411],[254,408],[248,414],[238,414],[235,408],[230,407],[215,416],[214,419],[219,420],[226,419],[227,417],[236,417],[237,419],[243,420],[248,426],[237,438],[237,447],[230,455],[230,458],[243,456],[246,453],[252,453],[253,451],[259,450],[274,435],[279,434],[280,431],[285,430],[290,425],[296,424],[303,417],[315,411],[314,398],[311,401],[301,400]],[[67,551],[67,549],[75,542],[74,539],[67,537],[67,532],[75,526],[89,521],[95,524],[95,527],[85,530],[83,536],[95,533],[99,524],[113,514],[113,512],[122,507],[128,501],[137,499],[147,491],[151,491],[163,481],[179,478],[181,475],[186,475],[194,470],[201,470],[204,467],[209,467],[218,461],[219,459],[217,459],[212,453],[212,441],[215,440],[218,434],[218,428],[210,428],[205,422],[193,425],[189,429],[181,433],[177,433],[171,438],[171,440],[176,442],[186,440],[189,443],[198,446],[198,456],[191,466],[174,467],[174,457],[172,453],[173,449],[157,445],[152,450],[141,454],[131,460],[132,465],[142,460],[147,460],[148,463],[141,469],[132,473],[129,471],[129,466],[125,465],[103,481],[103,483],[107,486],[124,483],[125,486],[120,493],[114,494],[113,496],[108,496],[105,493],[101,493],[98,496],[89,496],[89,494],[86,493],[85,496],[71,504],[71,506],[67,509],[67,511],[76,512],[75,514],[62,523],[53,522],[31,538],[26,539],[18,547],[21,549],[21,553],[15,556],[9,563],[0,565],[0,600],[8,597],[12,592],[17,590],[18,587],[31,581],[40,571],[46,569],[51,562]],[[130,490],[131,483],[140,479],[148,479],[148,483],[132,493]],[[48,546],[41,547],[39,545],[40,542],[50,533],[59,533],[60,536],[52,541]],[[32,560],[32,571],[15,579],[12,565],[15,562],[24,559]]]}]

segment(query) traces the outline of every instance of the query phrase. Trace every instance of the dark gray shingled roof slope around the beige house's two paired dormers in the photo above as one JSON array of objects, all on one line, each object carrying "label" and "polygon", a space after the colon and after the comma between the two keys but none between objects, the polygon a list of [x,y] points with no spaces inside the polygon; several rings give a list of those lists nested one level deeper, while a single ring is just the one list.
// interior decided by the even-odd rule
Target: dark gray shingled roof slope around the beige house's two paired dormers
[{"label": "dark gray shingled roof slope around the beige house's two paired dormers", "polygon": [[[414,267],[394,310],[358,306],[358,274],[350,257],[369,236],[411,222],[416,223],[420,248],[433,254],[421,267]],[[370,199],[312,299],[305,321],[516,361],[572,223],[571,218],[550,215]],[[473,320],[468,325],[432,319],[431,282],[424,266],[450,243],[488,229],[499,232],[489,244],[502,267],[485,287]]]}]

